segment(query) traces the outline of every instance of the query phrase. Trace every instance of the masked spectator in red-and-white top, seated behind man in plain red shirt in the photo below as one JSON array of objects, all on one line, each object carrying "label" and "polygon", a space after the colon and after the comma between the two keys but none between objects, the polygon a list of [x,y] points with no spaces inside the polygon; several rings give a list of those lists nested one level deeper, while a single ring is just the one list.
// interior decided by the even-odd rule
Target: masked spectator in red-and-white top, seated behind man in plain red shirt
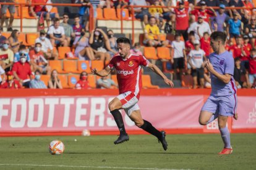
[{"label": "masked spectator in red-and-white top, seated behind man in plain red shirt", "polygon": [[51,67],[48,66],[48,61],[41,51],[41,44],[39,42],[35,44],[35,49],[32,49],[29,55],[31,56],[32,71],[39,70],[40,73],[51,75]]}]

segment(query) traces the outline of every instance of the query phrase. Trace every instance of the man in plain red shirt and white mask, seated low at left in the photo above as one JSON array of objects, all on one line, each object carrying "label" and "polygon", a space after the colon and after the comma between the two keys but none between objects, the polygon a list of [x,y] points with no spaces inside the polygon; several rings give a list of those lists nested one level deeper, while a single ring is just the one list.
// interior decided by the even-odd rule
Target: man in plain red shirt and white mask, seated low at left
[{"label": "man in plain red shirt and white mask, seated low at left", "polygon": [[[30,79],[32,78],[32,71],[30,69],[30,64],[26,61],[26,55],[20,55],[20,61],[14,63],[12,67],[12,72],[14,74],[14,78],[17,79],[20,84],[24,87],[29,87]],[[30,79],[28,79],[28,77]]]}]

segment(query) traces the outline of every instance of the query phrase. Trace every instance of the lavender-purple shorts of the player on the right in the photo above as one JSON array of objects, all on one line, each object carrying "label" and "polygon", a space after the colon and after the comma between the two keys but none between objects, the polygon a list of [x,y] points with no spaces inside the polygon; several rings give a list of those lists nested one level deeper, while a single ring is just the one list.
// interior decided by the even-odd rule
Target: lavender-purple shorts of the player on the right
[{"label": "lavender-purple shorts of the player on the right", "polygon": [[210,95],[203,105],[202,111],[209,111],[221,116],[234,116],[237,107],[236,94],[226,96]]}]

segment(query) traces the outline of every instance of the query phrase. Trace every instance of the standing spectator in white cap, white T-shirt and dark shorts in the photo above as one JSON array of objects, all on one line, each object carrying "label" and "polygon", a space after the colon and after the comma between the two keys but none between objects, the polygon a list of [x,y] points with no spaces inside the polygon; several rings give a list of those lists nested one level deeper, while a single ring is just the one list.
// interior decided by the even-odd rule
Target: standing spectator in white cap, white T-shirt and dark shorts
[{"label": "standing spectator in white cap, white T-shirt and dark shorts", "polygon": [[205,52],[200,49],[200,42],[196,39],[194,41],[195,49],[189,52],[189,64],[192,67],[192,76],[193,76],[193,88],[197,88],[197,78],[200,81],[200,88],[203,88],[205,85],[204,79],[204,60],[205,60]]}]

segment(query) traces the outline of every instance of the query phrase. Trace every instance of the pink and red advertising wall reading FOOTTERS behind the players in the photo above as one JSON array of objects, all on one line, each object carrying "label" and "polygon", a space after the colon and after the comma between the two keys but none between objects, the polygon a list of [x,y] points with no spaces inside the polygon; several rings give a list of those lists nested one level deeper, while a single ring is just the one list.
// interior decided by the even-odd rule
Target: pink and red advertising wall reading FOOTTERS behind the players
[{"label": "pink and red advertising wall reading FOOTTERS behind the players", "polygon": [[[118,134],[108,103],[116,89],[0,89],[0,136]],[[142,116],[168,134],[218,132],[218,123],[198,124],[210,89],[143,89]],[[237,91],[239,119],[230,118],[231,132],[256,132],[256,91]],[[146,134],[122,111],[129,134]]]}]

